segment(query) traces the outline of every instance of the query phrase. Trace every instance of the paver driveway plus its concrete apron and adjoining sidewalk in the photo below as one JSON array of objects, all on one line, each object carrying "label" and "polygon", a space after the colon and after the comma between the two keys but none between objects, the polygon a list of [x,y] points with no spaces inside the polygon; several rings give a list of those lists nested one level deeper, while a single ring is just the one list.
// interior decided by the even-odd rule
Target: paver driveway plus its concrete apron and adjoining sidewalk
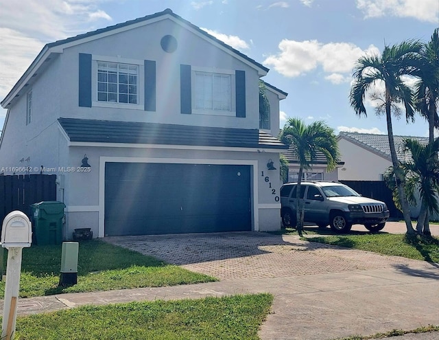
[{"label": "paver driveway plus its concrete apron and adjoining sidewalk", "polygon": [[[222,281],[19,299],[19,315],[84,304],[269,292],[274,304],[259,332],[261,339],[328,340],[439,325],[438,264],[306,242],[296,235],[248,232],[106,240]],[[439,332],[392,339],[439,339]]]}]

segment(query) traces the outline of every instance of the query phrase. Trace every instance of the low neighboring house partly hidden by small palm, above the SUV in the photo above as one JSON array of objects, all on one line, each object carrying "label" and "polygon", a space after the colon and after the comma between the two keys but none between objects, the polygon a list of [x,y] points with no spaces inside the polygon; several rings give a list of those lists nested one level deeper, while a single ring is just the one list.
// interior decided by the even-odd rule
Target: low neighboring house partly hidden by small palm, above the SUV
[{"label": "low neighboring house partly hidden by small palm, above the SUV", "polygon": [[[282,152],[288,161],[288,181],[297,182],[300,164],[298,162],[297,152],[293,145],[289,146],[286,152]],[[311,164],[311,168],[303,170],[302,181],[338,181],[337,169],[344,166],[343,161],[337,162],[337,168],[327,172],[327,159],[322,152],[317,152],[316,161]]]}]

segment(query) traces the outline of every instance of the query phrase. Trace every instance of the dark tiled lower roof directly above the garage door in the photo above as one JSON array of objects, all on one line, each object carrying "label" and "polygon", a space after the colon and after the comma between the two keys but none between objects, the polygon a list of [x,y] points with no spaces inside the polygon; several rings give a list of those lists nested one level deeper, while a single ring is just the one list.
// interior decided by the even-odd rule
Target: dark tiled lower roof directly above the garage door
[{"label": "dark tiled lower roof directly above the garage door", "polygon": [[257,129],[215,128],[145,122],[59,118],[70,141],[285,149],[281,141]]}]

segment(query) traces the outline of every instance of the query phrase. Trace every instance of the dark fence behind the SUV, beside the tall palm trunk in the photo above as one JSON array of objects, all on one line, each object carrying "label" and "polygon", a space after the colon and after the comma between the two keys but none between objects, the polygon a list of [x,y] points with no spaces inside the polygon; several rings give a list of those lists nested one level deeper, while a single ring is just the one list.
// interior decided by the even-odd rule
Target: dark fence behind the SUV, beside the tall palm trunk
[{"label": "dark fence behind the SUV, beside the tall palm trunk", "polygon": [[392,192],[383,181],[340,181],[353,188],[359,194],[383,201],[389,208],[390,218],[402,218],[403,213],[396,209],[392,199]]}]

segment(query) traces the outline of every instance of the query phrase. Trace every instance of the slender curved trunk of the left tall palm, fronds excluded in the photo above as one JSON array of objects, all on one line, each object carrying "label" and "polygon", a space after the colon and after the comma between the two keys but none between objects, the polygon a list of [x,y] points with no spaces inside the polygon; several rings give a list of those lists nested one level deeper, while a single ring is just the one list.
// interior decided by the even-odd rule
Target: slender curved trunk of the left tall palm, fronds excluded
[{"label": "slender curved trunk of the left tall palm, fronds excluded", "polygon": [[415,234],[412,227],[412,219],[410,218],[409,205],[407,203],[407,196],[405,196],[405,190],[403,188],[404,175],[401,168],[399,168],[398,157],[396,156],[395,143],[393,138],[393,128],[392,128],[392,115],[390,112],[390,92],[386,89],[385,91],[385,117],[387,119],[387,131],[389,137],[389,147],[390,155],[392,156],[392,164],[396,179],[396,188],[398,188],[399,201],[401,203],[401,208],[403,209],[403,216],[405,220],[405,227],[407,227],[407,234]]}]

